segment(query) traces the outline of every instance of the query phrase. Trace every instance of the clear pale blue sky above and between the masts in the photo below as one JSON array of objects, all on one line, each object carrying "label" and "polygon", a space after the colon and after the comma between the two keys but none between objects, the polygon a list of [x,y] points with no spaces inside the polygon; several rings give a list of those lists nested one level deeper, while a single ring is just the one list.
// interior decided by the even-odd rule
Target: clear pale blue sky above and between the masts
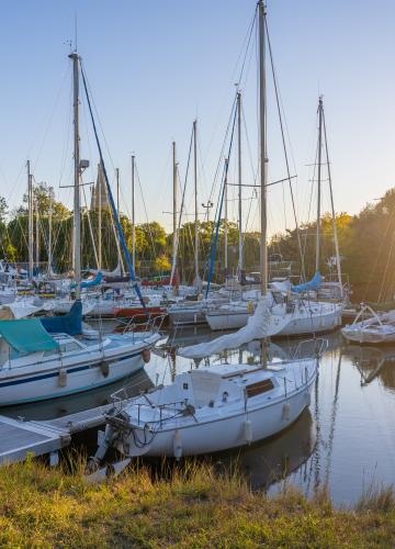
[{"label": "clear pale blue sky above and between the masts", "polygon": [[[70,190],[57,187],[59,180],[71,182],[71,67],[65,43],[74,38],[77,13],[78,49],[111,152],[109,170],[121,169],[123,210],[129,203],[134,150],[148,217],[170,226],[162,212],[171,206],[171,141],[177,141],[183,173],[195,116],[202,153],[200,202],[206,201],[253,10],[253,0],[3,0],[0,194],[11,206],[20,203],[30,157],[36,179],[70,200]],[[306,165],[314,160],[318,93],[325,100],[336,208],[358,212],[395,182],[395,2],[270,0],[268,18],[298,175],[301,216],[307,215]],[[244,86],[256,161],[253,56]],[[84,116],[82,108],[82,156],[95,166]],[[285,168],[272,100],[269,120],[270,176],[281,178]],[[251,180],[247,147],[245,164],[246,179]],[[91,170],[86,180],[93,178]],[[270,200],[271,231],[283,228],[282,191],[273,190]],[[289,204],[286,209],[291,226]],[[145,221],[140,199],[137,215]]]}]

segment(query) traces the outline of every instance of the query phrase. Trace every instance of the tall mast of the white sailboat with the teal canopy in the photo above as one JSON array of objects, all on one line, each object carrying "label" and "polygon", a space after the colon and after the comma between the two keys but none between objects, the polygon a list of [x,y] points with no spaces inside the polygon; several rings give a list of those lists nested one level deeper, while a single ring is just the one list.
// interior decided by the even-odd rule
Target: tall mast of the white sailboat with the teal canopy
[{"label": "tall mast of the white sailboat with the teal canopy", "polygon": [[74,82],[74,160],[75,160],[75,193],[74,193],[74,246],[72,267],[76,281],[76,299],[81,295],[81,212],[80,212],[80,152],[79,152],[79,56],[77,52],[69,55],[72,59]]}]

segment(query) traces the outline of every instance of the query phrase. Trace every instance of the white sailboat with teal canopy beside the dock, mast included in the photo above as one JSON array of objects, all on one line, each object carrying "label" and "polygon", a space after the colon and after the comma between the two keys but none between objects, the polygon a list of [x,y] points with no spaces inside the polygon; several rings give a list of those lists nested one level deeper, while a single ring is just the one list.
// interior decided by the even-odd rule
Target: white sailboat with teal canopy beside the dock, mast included
[{"label": "white sailboat with teal canopy beside the dock, mast included", "polygon": [[80,57],[77,52],[69,57],[74,69],[76,301],[65,317],[0,321],[0,405],[54,399],[112,383],[142,369],[150,347],[160,338],[154,330],[82,336],[80,177],[88,160],[79,155]]}]

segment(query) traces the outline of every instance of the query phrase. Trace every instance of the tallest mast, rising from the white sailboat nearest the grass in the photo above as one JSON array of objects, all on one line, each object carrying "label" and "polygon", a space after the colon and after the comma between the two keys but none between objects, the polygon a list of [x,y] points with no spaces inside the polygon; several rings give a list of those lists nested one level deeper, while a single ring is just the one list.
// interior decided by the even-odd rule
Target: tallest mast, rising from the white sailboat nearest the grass
[{"label": "tallest mast, rising from the white sailboat nearest the grass", "polygon": [[261,276],[261,293],[267,294],[268,291],[268,248],[267,248],[267,179],[268,179],[268,159],[267,159],[267,120],[266,120],[266,30],[264,19],[266,11],[263,1],[258,2],[259,13],[259,120],[260,120],[260,276]]}]

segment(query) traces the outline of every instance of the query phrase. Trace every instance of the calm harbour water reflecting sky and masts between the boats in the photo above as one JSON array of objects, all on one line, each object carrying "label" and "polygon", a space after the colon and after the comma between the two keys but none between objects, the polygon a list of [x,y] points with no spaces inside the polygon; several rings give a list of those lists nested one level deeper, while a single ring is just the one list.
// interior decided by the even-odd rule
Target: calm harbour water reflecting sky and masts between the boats
[{"label": "calm harbour water reflecting sky and masts between the boats", "polygon": [[[213,337],[206,330],[170,335],[174,345]],[[284,483],[307,495],[328,484],[334,501],[352,504],[370,484],[395,483],[395,347],[345,346],[339,334],[327,336],[328,350],[319,369],[312,404],[298,421],[276,437],[234,452],[216,455],[226,467],[235,458],[255,489],[275,492]],[[273,356],[290,356],[297,341],[272,344]],[[212,357],[210,363],[257,359],[259,346]],[[168,383],[191,361],[170,351],[153,355],[145,371],[127,383],[136,391]],[[48,419],[104,404],[121,384],[79,396],[2,411],[12,416]]]}]

